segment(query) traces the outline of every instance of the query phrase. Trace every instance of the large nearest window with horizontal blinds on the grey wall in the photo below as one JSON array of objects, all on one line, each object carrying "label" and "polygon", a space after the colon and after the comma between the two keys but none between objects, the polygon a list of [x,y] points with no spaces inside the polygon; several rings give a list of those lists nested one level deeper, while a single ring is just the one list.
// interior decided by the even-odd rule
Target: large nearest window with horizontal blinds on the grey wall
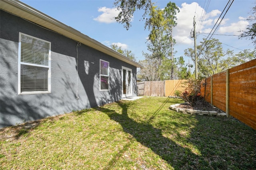
[{"label": "large nearest window with horizontal blinds on the grey wall", "polygon": [[20,33],[19,94],[50,93],[50,49],[50,42]]}]

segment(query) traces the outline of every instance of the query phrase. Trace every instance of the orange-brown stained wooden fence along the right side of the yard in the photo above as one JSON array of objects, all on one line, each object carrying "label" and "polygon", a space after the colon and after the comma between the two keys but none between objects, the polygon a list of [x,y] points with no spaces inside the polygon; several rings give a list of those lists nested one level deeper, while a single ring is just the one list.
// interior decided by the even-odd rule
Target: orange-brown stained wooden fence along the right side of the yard
[{"label": "orange-brown stained wooden fence along the right side of the yard", "polygon": [[256,59],[206,78],[201,95],[256,130]]}]

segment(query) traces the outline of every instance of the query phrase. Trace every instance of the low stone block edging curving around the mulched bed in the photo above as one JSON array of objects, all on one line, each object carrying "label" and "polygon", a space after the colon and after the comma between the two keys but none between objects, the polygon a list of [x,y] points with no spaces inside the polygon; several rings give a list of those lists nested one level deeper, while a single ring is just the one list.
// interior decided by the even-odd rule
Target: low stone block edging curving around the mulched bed
[{"label": "low stone block edging curving around the mulched bed", "polygon": [[174,104],[170,105],[170,109],[183,113],[183,114],[189,114],[189,115],[200,115],[200,116],[215,116],[215,117],[226,117],[226,113],[218,113],[216,111],[200,111],[200,110],[194,110],[194,109],[184,109],[184,108],[179,108],[180,104]]}]

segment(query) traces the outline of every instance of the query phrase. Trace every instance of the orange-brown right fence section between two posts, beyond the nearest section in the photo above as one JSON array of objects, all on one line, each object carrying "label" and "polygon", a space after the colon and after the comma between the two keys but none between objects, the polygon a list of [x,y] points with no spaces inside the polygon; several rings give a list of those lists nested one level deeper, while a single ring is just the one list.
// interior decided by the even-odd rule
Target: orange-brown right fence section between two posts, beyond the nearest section
[{"label": "orange-brown right fence section between two posts, beyond the nearest section", "polygon": [[212,104],[226,112],[226,71],[212,75]]}]

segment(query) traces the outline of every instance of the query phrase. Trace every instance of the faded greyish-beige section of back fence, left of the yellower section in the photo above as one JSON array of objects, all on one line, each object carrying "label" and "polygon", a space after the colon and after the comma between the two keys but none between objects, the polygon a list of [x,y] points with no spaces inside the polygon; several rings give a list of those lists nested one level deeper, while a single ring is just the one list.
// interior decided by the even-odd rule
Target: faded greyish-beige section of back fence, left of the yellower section
[{"label": "faded greyish-beige section of back fence, left of the yellower section", "polygon": [[145,96],[164,96],[164,81],[144,81]]}]

